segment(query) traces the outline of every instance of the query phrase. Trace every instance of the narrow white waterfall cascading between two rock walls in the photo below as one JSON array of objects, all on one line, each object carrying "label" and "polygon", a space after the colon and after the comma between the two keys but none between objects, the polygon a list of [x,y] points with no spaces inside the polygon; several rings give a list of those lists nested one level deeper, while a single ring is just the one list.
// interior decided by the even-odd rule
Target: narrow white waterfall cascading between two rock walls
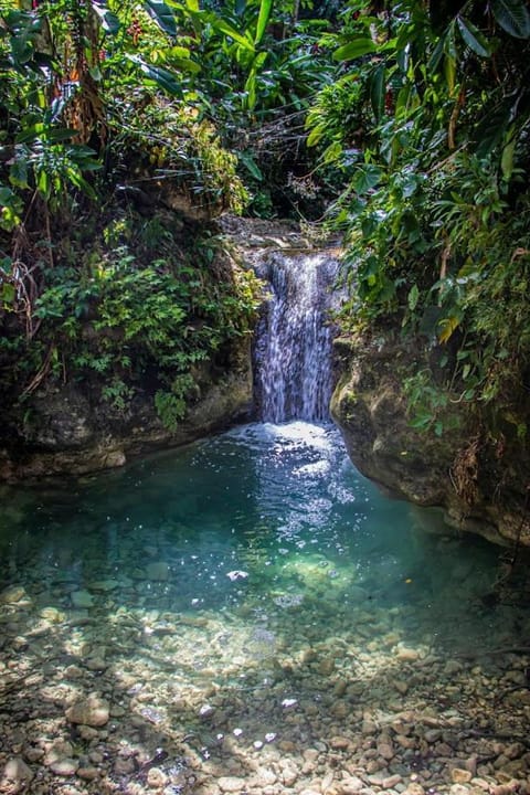
[{"label": "narrow white waterfall cascading between two rock walls", "polygon": [[269,298],[257,329],[255,389],[264,422],[329,418],[332,328],[338,271],[325,252],[262,258],[256,272]]}]

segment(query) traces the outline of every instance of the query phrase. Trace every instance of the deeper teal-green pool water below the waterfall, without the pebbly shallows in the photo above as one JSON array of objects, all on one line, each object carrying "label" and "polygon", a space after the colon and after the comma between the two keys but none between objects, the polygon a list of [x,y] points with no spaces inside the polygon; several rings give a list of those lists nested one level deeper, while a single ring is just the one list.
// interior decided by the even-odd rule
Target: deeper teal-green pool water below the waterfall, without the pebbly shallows
[{"label": "deeper teal-green pool water below the waterfall, without the pebbly shallows", "polygon": [[98,621],[215,615],[248,640],[265,625],[286,640],[296,612],[299,645],[391,616],[396,643],[448,651],[498,645],[518,621],[487,606],[499,550],[383,497],[329,426],[248,425],[64,487],[4,488],[3,506],[2,585],[74,618],[82,590]]}]

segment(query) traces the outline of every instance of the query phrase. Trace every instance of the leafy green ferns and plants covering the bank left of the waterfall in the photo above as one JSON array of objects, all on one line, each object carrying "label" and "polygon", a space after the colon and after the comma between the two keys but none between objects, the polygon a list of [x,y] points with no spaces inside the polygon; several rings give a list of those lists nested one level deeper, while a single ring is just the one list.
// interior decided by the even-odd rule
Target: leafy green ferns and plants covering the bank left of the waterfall
[{"label": "leafy green ferns and plants covering the bank left of the waterfall", "polygon": [[251,273],[232,271],[214,239],[198,236],[184,251],[172,223],[170,213],[121,211],[85,253],[83,237],[70,241],[76,265],[45,268],[35,333],[24,339],[17,314],[0,315],[3,390],[24,395],[44,378],[73,378],[120,412],[150,390],[165,424],[180,420],[197,365],[252,328],[258,289]]}]

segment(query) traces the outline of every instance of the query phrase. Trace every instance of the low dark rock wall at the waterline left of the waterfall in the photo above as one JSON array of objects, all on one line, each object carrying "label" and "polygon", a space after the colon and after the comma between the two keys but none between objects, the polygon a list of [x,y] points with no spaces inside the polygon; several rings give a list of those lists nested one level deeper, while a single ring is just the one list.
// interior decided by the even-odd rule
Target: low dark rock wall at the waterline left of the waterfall
[{"label": "low dark rock wall at the waterline left of the waterfall", "polygon": [[163,426],[147,391],[117,411],[86,383],[38,390],[25,404],[23,426],[0,433],[0,479],[121,466],[129,456],[187,444],[242,420],[252,407],[250,337],[222,354],[222,363],[208,362],[194,374],[199,394],[174,432]]}]

